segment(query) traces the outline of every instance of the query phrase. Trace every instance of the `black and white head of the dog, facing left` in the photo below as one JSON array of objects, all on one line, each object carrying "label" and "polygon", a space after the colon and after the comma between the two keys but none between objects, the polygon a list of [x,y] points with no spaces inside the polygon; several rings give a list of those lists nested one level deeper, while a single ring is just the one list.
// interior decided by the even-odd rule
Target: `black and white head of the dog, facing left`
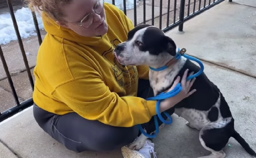
[{"label": "black and white head of the dog, facing left", "polygon": [[176,55],[176,44],[165,33],[152,25],[138,25],[128,33],[128,40],[114,50],[123,65],[159,66]]}]

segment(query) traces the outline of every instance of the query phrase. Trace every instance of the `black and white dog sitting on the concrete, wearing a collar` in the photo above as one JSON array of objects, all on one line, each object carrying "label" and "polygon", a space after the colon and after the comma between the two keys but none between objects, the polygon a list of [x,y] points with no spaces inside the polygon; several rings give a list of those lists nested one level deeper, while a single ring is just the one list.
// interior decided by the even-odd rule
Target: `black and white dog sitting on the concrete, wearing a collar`
[{"label": "black and white dog sitting on the concrete, wearing a collar", "polygon": [[[128,33],[126,42],[117,45],[114,53],[123,65],[148,65],[153,68],[168,65],[163,71],[150,70],[150,84],[154,95],[158,95],[168,90],[177,76],[182,77],[186,69],[189,69],[189,73],[200,70],[200,67],[183,56],[176,60],[177,50],[175,42],[162,30],[151,25],[138,25]],[[212,152],[200,158],[224,158],[226,154],[222,149],[230,137],[235,138],[250,155],[256,157],[256,153],[234,129],[234,118],[218,87],[202,73],[191,89],[197,91],[167,112],[185,118],[188,121],[186,125],[200,130],[201,145]],[[159,125],[163,124],[158,121]],[[143,128],[148,134],[154,132],[154,120]],[[141,134],[129,148],[139,150],[146,139],[147,137]]]}]

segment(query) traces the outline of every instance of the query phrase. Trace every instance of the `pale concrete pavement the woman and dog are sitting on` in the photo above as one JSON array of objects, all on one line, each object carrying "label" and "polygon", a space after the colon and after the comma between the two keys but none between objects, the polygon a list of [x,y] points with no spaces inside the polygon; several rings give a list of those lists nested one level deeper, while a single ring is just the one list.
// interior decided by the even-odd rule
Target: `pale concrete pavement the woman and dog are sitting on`
[{"label": "pale concrete pavement the woman and dog are sitting on", "polygon": [[[236,130],[256,150],[254,1],[225,1],[186,22],[184,34],[177,34],[174,29],[168,35],[179,47],[186,48],[189,55],[206,61],[204,72],[229,103]],[[201,146],[198,131],[188,128],[186,121],[177,115],[173,119],[174,123],[166,125],[154,140],[158,158],[197,158],[210,153]],[[231,147],[224,149],[226,158],[250,158],[233,138],[228,144]],[[39,128],[32,108],[0,123],[0,155],[3,158],[122,158],[120,150],[105,153],[67,150]]]}]

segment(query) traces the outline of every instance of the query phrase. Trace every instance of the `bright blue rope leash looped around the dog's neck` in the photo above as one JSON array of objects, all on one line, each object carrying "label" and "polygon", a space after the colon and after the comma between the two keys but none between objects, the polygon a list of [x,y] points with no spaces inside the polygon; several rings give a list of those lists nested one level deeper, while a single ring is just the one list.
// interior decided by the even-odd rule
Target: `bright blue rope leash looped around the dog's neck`
[{"label": "bright blue rope leash looped around the dog's neck", "polygon": [[[186,52],[186,49],[183,48],[183,49],[178,49],[178,53],[176,54],[176,59],[179,60],[181,58],[181,56],[184,56],[185,58],[189,59],[189,60],[193,60],[195,62],[197,62],[201,69],[200,71],[198,71],[196,74],[192,75],[192,76],[189,76],[187,80],[190,80],[190,79],[193,79],[195,77],[198,77],[199,75],[201,75],[203,73],[203,69],[204,69],[204,66],[203,66],[203,63],[198,60],[197,58],[194,58],[192,56],[189,56],[189,55],[186,55],[184,54]],[[160,67],[160,68],[153,68],[153,67],[150,67],[150,69],[152,69],[153,71],[163,71],[165,70],[166,68],[168,68],[168,66],[163,66],[163,67]],[[161,115],[161,112],[160,112],[160,103],[161,101],[167,99],[167,98],[171,98],[171,97],[174,97],[176,96],[180,91],[182,90],[182,87],[181,87],[181,84],[178,83],[178,85],[172,90],[172,91],[169,91],[167,93],[165,92],[162,92],[160,93],[159,95],[157,96],[154,96],[154,97],[150,97],[148,98],[147,100],[157,100],[157,103],[156,103],[156,113],[157,115],[154,115],[154,121],[155,121],[155,128],[156,128],[156,133],[154,135],[151,135],[151,134],[147,134],[144,129],[142,128],[141,125],[139,125],[139,128],[140,128],[140,132],[142,134],[144,134],[146,137],[148,138],[156,138],[157,134],[159,133],[159,124],[158,124],[158,121],[157,121],[157,116],[159,117],[159,119],[165,123],[165,124],[171,124],[173,122],[172,120],[172,117],[171,115],[169,115],[168,113],[166,112],[163,112],[168,118],[169,118],[169,121],[166,121],[162,115]]]}]

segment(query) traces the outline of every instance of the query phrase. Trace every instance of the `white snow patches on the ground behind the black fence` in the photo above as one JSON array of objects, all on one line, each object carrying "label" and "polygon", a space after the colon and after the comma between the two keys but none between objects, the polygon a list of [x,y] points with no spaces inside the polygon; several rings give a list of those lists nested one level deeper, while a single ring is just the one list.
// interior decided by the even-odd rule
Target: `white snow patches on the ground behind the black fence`
[{"label": "white snow patches on the ground behind the black fence", "polygon": [[[136,0],[137,4],[139,0]],[[105,2],[112,4],[112,0],[105,0]],[[136,5],[137,5],[136,4]],[[123,0],[115,0],[115,5],[123,10]],[[134,0],[126,0],[126,9],[134,8]],[[18,24],[18,29],[21,38],[28,38],[36,35],[36,28],[34,25],[31,10],[27,7],[18,9],[15,13],[15,18]],[[36,13],[39,29],[43,30],[42,17]],[[18,40],[10,13],[0,14],[0,44],[7,44],[11,41]]]}]

